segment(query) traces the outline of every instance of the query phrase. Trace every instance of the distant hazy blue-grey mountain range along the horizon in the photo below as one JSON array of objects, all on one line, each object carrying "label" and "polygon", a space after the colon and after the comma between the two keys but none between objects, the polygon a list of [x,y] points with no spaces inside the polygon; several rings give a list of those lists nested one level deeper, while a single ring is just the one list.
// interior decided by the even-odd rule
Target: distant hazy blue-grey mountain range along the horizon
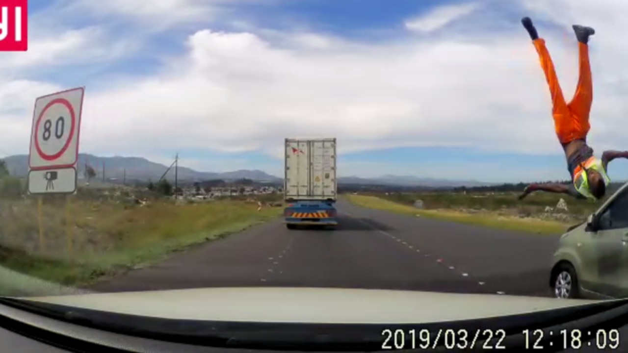
[{"label": "distant hazy blue-grey mountain range along the horizon", "polygon": [[[14,176],[26,176],[28,174],[28,155],[13,155],[4,158],[9,173]],[[82,178],[85,166],[94,168],[96,178],[102,178],[103,171],[106,180],[158,180],[166,173],[168,166],[149,161],[141,157],[99,157],[88,154],[78,155],[78,175]],[[166,175],[168,180],[175,178],[174,168]],[[281,183],[283,178],[270,175],[261,170],[236,170],[224,173],[210,171],[197,171],[185,166],[178,166],[177,178],[181,182],[195,182],[202,180],[223,179],[237,180],[247,178],[256,182]],[[418,178],[416,176],[383,175],[377,178],[360,178],[359,176],[341,176],[338,178],[341,184],[357,185],[404,185],[423,187],[477,187],[482,185],[495,185],[495,183],[482,183],[474,180],[444,180],[435,178]]]}]

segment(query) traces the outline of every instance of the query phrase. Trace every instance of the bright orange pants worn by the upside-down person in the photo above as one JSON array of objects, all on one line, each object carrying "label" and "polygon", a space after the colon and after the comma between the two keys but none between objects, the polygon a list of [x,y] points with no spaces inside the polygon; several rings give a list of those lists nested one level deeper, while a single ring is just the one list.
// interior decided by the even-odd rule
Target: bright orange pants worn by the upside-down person
[{"label": "bright orange pants worn by the upside-down person", "polygon": [[552,115],[556,136],[560,143],[566,144],[576,139],[587,138],[589,125],[589,112],[593,102],[593,82],[591,79],[591,66],[588,57],[588,46],[578,42],[580,52],[580,78],[576,87],[576,93],[571,102],[566,103],[563,92],[558,84],[554,64],[549,57],[545,41],[541,38],[533,40],[534,48],[539,53],[541,67],[548,81],[549,93],[553,104]]}]

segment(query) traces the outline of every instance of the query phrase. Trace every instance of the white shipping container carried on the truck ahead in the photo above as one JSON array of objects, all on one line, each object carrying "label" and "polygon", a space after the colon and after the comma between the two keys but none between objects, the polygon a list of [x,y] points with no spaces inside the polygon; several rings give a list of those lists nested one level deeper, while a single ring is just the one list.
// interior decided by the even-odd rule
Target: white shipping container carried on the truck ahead
[{"label": "white shipping container carried on the truck ahead", "polygon": [[336,139],[286,139],[284,197],[336,200]]}]

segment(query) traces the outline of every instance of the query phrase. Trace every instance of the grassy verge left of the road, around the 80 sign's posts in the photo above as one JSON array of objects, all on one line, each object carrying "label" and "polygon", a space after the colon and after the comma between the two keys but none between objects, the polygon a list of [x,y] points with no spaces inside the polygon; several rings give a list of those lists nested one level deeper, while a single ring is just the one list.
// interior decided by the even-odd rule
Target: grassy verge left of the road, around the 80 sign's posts
[{"label": "grassy verge left of the road, around the 80 sign's posts", "polygon": [[41,212],[42,248],[36,201],[1,200],[0,264],[41,280],[85,286],[242,231],[281,211],[263,207],[257,212],[252,200],[175,205],[156,199],[133,205],[124,199],[75,197],[68,206],[63,198],[49,198]]}]

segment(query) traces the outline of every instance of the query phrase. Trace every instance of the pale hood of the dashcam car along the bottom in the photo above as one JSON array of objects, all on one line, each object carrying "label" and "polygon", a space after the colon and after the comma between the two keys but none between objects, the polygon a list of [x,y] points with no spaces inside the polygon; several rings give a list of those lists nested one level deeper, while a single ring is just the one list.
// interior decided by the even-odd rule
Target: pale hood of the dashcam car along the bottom
[{"label": "pale hood of the dashcam car along the bottom", "polygon": [[516,315],[595,302],[529,296],[336,288],[199,288],[23,299],[180,320],[301,323],[441,322]]}]

